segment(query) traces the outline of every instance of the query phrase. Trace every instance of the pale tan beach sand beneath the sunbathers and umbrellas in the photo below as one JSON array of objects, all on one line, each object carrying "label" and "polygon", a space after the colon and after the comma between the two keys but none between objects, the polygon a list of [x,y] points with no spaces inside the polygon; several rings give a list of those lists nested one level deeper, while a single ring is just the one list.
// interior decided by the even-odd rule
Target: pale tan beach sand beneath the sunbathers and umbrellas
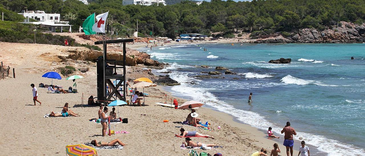
[{"label": "pale tan beach sand beneath the sunbathers and umbrellas", "polygon": [[[137,46],[136,46],[137,47]],[[226,113],[217,112],[208,108],[199,108],[199,118],[202,121],[211,122],[212,130],[198,129],[173,123],[185,120],[189,110],[175,110],[155,105],[155,102],[164,102],[167,98],[174,98],[170,93],[161,87],[146,88],[146,105],[120,106],[119,114],[122,118],[128,118],[128,124],[115,124],[115,130],[126,130],[129,134],[116,134],[112,136],[101,136],[101,125],[88,121],[97,117],[99,107],[81,107],[82,93],[84,103],[90,95],[96,96],[96,67],[95,64],[88,65],[90,71],[83,75],[84,79],[77,80],[77,94],[52,94],[47,89],[39,88],[38,100],[40,106],[33,106],[31,83],[38,86],[39,83],[50,84],[51,79],[41,76],[47,71],[55,70],[62,63],[52,63],[42,58],[46,52],[59,52],[63,47],[46,44],[22,44],[0,42],[0,59],[11,68],[15,68],[16,78],[5,78],[0,80],[1,99],[3,109],[0,110],[0,124],[3,128],[0,131],[3,136],[0,141],[0,153],[5,155],[65,155],[65,146],[90,142],[91,140],[111,141],[119,138],[123,143],[128,144],[124,149],[99,149],[99,155],[187,155],[188,149],[180,149],[182,138],[174,137],[183,126],[186,130],[197,130],[199,133],[214,136],[215,139],[192,138],[193,141],[205,144],[218,144],[223,148],[206,150],[213,155],[220,152],[226,156],[249,156],[258,151],[261,147],[271,151],[272,145],[276,143],[265,137],[265,133],[246,124],[235,122]],[[137,47],[138,48],[138,47]],[[75,65],[76,68],[85,65]],[[128,68],[131,69],[131,68]],[[12,75],[12,74],[11,74]],[[136,78],[138,74],[134,74]],[[140,75],[143,76],[143,73]],[[72,81],[54,80],[53,84],[68,88]],[[129,76],[127,75],[127,78]],[[183,99],[179,99],[181,104]],[[69,109],[79,113],[80,117],[54,117],[43,118],[51,111],[61,112],[65,102],[69,103]],[[109,108],[111,110],[111,108]],[[118,110],[118,109],[117,109]],[[146,116],[141,115],[146,114]],[[169,120],[169,122],[162,122]],[[113,126],[113,125],[112,125]],[[218,129],[217,126],[221,126]],[[274,139],[279,140],[279,139]],[[280,139],[282,142],[283,139]],[[285,155],[285,147],[279,143]],[[203,150],[197,149],[201,152]],[[295,153],[298,153],[295,151]]]}]

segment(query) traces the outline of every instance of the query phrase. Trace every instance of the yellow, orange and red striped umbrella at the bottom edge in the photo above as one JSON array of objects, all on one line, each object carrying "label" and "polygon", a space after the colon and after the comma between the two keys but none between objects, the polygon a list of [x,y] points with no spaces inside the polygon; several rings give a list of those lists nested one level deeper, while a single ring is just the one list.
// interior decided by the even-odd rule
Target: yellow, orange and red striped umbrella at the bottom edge
[{"label": "yellow, orange and red striped umbrella at the bottom edge", "polygon": [[69,156],[92,156],[97,155],[95,148],[84,144],[66,146],[66,155]]}]

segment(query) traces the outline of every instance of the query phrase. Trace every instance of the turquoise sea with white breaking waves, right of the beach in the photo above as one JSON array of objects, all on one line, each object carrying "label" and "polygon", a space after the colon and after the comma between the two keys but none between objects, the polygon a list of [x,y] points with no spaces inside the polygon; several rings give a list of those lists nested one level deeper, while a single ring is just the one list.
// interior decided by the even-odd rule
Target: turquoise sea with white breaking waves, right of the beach
[{"label": "turquoise sea with white breaking waves, right of the beach", "polygon": [[[295,139],[328,155],[365,155],[365,44],[181,44],[141,50],[172,64],[160,71],[173,71],[170,77],[181,82],[171,88],[176,95],[265,130],[280,132],[290,121]],[[281,57],[292,63],[267,63]],[[237,75],[196,79],[214,68],[194,65],[223,66]],[[248,105],[250,92],[254,102]]]}]

